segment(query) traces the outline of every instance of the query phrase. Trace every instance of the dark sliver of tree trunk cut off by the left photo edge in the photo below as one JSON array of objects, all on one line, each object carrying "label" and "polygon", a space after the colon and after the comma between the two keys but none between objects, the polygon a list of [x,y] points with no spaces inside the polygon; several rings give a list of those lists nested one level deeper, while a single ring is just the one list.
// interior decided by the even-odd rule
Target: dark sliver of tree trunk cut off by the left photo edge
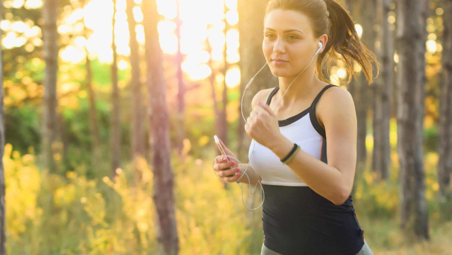
[{"label": "dark sliver of tree trunk cut off by the left photo edge", "polygon": [[[0,5],[0,21],[3,18],[3,5]],[[0,30],[0,38],[2,31]],[[3,53],[0,47],[0,70],[3,70]],[[0,159],[5,154],[5,110],[3,105],[3,72],[0,72]],[[0,160],[0,255],[6,255],[6,225],[5,225],[5,171],[3,160]]]}]

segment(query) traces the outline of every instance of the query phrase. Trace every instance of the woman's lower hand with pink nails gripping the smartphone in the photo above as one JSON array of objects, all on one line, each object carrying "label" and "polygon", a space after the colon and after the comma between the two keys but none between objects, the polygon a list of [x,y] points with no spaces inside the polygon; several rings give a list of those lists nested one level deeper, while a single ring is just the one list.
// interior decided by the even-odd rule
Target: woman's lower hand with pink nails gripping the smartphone
[{"label": "woman's lower hand with pink nails gripping the smartphone", "polygon": [[[221,141],[221,139],[218,140],[220,140],[220,144],[223,147],[223,150],[225,150],[226,155],[235,157],[231,150],[224,145],[223,141]],[[228,159],[230,161],[228,161]],[[213,170],[217,172],[217,176],[223,182],[236,182],[241,176],[239,173],[240,168],[238,162],[231,157],[217,157],[213,165]]]}]

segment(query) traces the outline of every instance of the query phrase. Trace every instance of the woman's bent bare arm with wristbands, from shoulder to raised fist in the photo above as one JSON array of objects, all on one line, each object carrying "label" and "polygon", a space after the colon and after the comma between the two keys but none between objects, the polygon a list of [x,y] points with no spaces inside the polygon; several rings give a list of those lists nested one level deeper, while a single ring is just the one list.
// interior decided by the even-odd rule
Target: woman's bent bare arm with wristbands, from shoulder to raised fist
[{"label": "woman's bent bare arm with wristbands, from shoulder to raised fist", "polygon": [[[316,112],[325,126],[328,141],[326,148],[328,164],[300,150],[287,166],[320,196],[335,205],[342,205],[352,191],[356,168],[357,120],[355,106],[352,96],[344,89],[327,90],[321,99],[324,99],[324,103],[317,104]],[[261,118],[261,123],[267,121],[273,123],[275,120],[276,124],[278,123],[268,105],[259,104],[259,106],[254,110],[254,118]],[[273,125],[259,125],[259,121],[251,123],[254,124],[254,127],[245,126],[245,130],[248,129],[247,132],[256,141],[263,141],[264,143],[261,144],[271,149],[280,159],[292,150],[293,143],[291,141],[282,136],[280,132],[274,132],[275,130],[272,132],[269,130],[270,128],[265,127],[274,126],[274,123]],[[253,128],[255,131],[261,130],[253,132]],[[264,129],[267,129],[269,139],[264,138]],[[270,132],[273,133],[273,137]],[[260,139],[253,137],[253,134],[260,136]]]}]

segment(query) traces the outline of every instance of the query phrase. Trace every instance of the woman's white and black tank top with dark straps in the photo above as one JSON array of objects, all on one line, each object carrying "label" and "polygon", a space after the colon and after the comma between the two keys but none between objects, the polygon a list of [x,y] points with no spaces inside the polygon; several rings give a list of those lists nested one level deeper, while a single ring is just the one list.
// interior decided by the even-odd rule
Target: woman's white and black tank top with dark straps
[{"label": "woman's white and black tank top with dark straps", "polygon": [[[333,86],[325,86],[308,109],[278,120],[282,135],[326,164],[326,134],[315,116],[315,105],[323,92]],[[278,89],[270,93],[267,105]],[[250,164],[262,178],[265,192],[262,228],[268,249],[282,255],[355,255],[361,250],[364,231],[351,195],[344,204],[334,205],[302,182],[273,151],[254,140],[249,157],[253,147]]]}]

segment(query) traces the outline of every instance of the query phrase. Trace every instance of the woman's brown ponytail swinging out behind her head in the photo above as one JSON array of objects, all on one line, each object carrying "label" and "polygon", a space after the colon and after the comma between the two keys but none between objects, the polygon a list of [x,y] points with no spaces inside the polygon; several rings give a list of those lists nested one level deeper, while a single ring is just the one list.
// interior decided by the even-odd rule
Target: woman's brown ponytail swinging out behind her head
[{"label": "woman's brown ponytail swinging out behind her head", "polygon": [[317,73],[326,81],[322,72],[324,62],[327,64],[326,69],[328,71],[330,70],[333,59],[343,60],[348,71],[348,82],[350,82],[352,77],[355,76],[352,63],[353,59],[361,66],[367,81],[371,84],[373,81],[372,62],[377,66],[376,76],[378,76],[380,71],[377,57],[359,39],[355,25],[348,12],[335,0],[325,0],[325,4],[330,23],[329,40],[326,43],[325,50],[319,54],[319,58],[317,59]]}]

